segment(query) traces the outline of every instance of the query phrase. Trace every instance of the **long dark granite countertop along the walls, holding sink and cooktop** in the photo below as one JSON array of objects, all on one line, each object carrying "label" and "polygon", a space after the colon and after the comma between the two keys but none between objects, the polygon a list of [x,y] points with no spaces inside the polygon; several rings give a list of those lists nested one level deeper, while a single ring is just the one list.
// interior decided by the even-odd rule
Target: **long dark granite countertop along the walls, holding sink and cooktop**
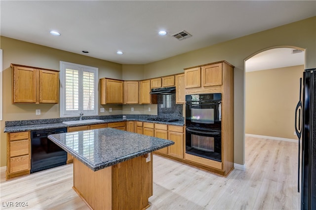
[{"label": "long dark granite countertop along the walls, holding sink and cooktop", "polygon": [[[159,124],[167,124],[167,125],[176,125],[176,126],[184,126],[184,121],[174,121],[174,122],[161,122],[161,121],[152,121],[143,118],[127,118],[123,119],[119,118],[109,118],[102,119],[103,122],[94,122],[94,123],[80,123],[76,125],[66,125],[62,123],[62,121],[58,122],[56,119],[44,119],[44,120],[31,120],[31,122],[27,122],[25,124],[19,123],[19,121],[14,121],[13,123],[7,123],[8,125],[4,128],[4,133],[11,132],[22,132],[22,131],[34,131],[34,130],[42,130],[42,129],[50,129],[50,128],[67,128],[74,126],[82,126],[82,125],[93,125],[93,124],[101,124],[101,123],[111,123],[111,122],[123,122],[123,121],[141,121],[141,122],[151,122],[151,123],[159,123]],[[26,121],[26,120],[24,120]],[[70,120],[65,120],[70,121]],[[21,121],[20,121],[21,122]],[[33,123],[33,124],[32,124]]]}]

